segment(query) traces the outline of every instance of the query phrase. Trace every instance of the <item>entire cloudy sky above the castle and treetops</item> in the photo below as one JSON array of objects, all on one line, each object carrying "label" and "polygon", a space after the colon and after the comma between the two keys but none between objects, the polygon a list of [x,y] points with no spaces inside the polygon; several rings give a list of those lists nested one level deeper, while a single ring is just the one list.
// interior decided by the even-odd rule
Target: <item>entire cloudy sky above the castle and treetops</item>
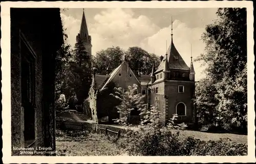
[{"label": "entire cloudy sky above the castle and treetops", "polygon": [[[67,42],[75,45],[80,30],[82,8],[61,9]],[[173,41],[186,64],[190,56],[204,53],[201,35],[205,26],[217,19],[217,8],[84,8],[92,54],[101,49],[119,46],[127,50],[139,46],[149,53],[164,56],[170,44],[173,17]],[[194,62],[196,80],[204,77],[201,63]]]}]

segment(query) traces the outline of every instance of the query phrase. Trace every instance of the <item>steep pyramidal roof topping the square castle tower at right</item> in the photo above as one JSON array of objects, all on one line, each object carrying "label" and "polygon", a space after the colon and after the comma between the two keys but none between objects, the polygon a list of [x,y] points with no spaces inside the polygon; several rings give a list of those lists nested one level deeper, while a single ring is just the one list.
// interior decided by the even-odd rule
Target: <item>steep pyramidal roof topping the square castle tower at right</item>
[{"label": "steep pyramidal roof topping the square castle tower at right", "polygon": [[155,72],[159,72],[164,69],[166,58],[169,64],[169,69],[189,70],[189,67],[186,65],[180,53],[176,49],[173,42],[173,38],[166,53],[167,53],[167,56],[165,55],[165,57],[163,58],[163,60],[161,61],[160,65],[158,66]]}]

